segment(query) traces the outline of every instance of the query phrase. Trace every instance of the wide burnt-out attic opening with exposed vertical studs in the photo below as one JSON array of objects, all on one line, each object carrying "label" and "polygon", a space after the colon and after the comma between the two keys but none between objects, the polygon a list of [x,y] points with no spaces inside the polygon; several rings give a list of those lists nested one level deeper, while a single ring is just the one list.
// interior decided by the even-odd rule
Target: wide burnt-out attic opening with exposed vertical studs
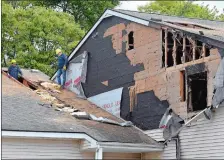
[{"label": "wide burnt-out attic opening with exposed vertical studs", "polygon": [[162,30],[162,67],[172,67],[208,56],[209,45],[175,30]]}]

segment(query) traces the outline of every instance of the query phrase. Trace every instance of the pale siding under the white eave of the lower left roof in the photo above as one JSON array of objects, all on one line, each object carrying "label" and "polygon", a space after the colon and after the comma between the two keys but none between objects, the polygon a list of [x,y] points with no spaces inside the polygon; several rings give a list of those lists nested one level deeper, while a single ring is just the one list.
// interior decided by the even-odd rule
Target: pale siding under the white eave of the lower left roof
[{"label": "pale siding under the white eave of the lower left roof", "polygon": [[80,141],[2,138],[3,159],[87,159],[94,153],[80,152]]}]

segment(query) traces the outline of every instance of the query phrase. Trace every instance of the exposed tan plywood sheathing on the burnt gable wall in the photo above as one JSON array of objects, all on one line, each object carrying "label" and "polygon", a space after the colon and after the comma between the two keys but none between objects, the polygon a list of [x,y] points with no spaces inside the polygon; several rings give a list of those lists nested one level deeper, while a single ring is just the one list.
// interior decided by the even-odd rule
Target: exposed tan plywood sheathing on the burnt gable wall
[{"label": "exposed tan plywood sheathing on the burnt gable wall", "polygon": [[[121,38],[120,34],[123,30],[125,30],[127,34],[123,35]],[[126,43],[125,54],[130,60],[131,65],[135,66],[137,64],[143,64],[144,70],[134,74],[135,85],[131,86],[129,90],[131,104],[130,110],[133,110],[137,94],[153,90],[160,100],[167,100],[176,113],[181,115],[183,118],[187,117],[186,101],[181,102],[180,71],[184,70],[187,66],[199,63],[205,63],[208,68],[209,95],[207,101],[208,105],[211,104],[213,92],[212,80],[220,61],[217,49],[211,49],[209,57],[204,57],[176,66],[174,65],[173,67],[161,68],[161,30],[149,28],[136,23],[130,23],[127,26],[124,24],[118,24],[109,28],[105,32],[104,37],[112,35],[113,48],[116,50],[116,53],[119,54],[122,50],[122,41],[128,42],[128,34],[131,31],[133,31],[134,49],[128,50],[128,43]],[[118,32],[120,34],[118,34]],[[190,40],[191,44],[194,43],[194,39],[191,39],[190,37],[186,38]],[[185,47],[186,46],[183,45],[184,52],[186,50]]]}]

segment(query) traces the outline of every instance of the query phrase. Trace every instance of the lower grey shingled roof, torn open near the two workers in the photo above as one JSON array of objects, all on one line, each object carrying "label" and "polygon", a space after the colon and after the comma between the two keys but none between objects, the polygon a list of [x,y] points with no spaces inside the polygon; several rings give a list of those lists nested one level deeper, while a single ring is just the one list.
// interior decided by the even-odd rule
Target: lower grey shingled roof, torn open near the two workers
[{"label": "lower grey shingled roof, torn open near the two workers", "polygon": [[[58,98],[95,116],[121,121],[88,101],[76,98],[73,92],[62,90]],[[2,74],[2,130],[85,133],[99,142],[157,144],[135,127],[80,120],[69,113],[41,106],[40,102],[44,100],[34,91]]]}]

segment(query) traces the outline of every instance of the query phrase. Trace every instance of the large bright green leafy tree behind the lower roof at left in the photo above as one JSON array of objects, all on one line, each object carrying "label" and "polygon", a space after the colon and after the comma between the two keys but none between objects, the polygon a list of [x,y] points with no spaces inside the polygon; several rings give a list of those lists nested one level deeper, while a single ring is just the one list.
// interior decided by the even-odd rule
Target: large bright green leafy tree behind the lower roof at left
[{"label": "large bright green leafy tree behind the lower roof at left", "polygon": [[12,7],[2,2],[1,56],[15,58],[21,67],[52,75],[55,49],[62,48],[69,54],[83,35],[80,25],[68,13],[40,6]]}]

